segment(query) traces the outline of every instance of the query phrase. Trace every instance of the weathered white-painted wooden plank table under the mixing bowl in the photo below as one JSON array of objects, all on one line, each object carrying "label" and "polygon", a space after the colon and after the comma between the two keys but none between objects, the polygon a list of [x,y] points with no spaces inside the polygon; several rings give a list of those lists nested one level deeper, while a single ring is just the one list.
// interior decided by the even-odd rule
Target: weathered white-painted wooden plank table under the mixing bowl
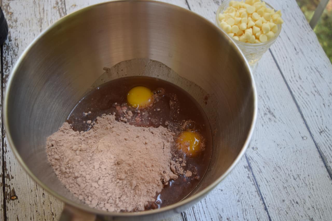
[{"label": "weathered white-painted wooden plank table under the mixing bowl", "polygon": [[[0,0],[10,29],[1,48],[1,93],[18,56],[42,30],[68,13],[102,1]],[[211,22],[221,4],[166,2]],[[285,24],[254,73],[258,118],[251,144],[207,197],[169,220],[332,219],[332,65],[295,0],[270,2],[282,10]],[[62,202],[28,177],[3,128],[1,133],[0,220],[57,220]]]}]

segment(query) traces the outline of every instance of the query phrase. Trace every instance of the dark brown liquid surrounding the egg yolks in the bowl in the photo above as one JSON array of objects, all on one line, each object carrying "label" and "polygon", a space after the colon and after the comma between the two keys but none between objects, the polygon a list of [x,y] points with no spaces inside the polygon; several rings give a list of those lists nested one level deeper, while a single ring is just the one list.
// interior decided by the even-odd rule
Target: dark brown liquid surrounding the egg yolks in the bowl
[{"label": "dark brown liquid surrounding the egg yolks in the bowl", "polygon": [[[135,86],[144,86],[153,91],[156,102],[151,107],[134,109],[127,106],[127,92]],[[126,112],[121,109],[126,107]],[[128,111],[131,111],[128,118]],[[186,129],[199,132],[205,143],[205,150],[195,157],[189,157],[179,151],[174,144],[172,155],[180,156],[187,161],[185,170],[195,171],[193,176],[179,176],[171,180],[156,195],[156,201],[150,202],[146,209],[164,207],[186,197],[203,178],[212,153],[212,133],[207,116],[187,92],[169,82],[151,77],[125,77],[107,82],[90,91],[75,106],[67,118],[76,131],[90,129],[90,120],[95,121],[102,114],[116,113],[116,119],[135,126],[169,128],[176,137]],[[127,118],[125,117],[127,116]],[[90,126],[90,127],[89,127]]]}]

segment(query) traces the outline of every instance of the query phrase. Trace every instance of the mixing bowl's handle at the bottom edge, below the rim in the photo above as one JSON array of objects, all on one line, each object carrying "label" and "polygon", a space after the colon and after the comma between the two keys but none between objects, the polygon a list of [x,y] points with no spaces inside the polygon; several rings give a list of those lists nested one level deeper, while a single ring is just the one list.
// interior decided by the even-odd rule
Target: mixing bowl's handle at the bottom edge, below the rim
[{"label": "mixing bowl's handle at the bottom edge, below the rim", "polygon": [[96,214],[64,205],[59,221],[97,221]]}]

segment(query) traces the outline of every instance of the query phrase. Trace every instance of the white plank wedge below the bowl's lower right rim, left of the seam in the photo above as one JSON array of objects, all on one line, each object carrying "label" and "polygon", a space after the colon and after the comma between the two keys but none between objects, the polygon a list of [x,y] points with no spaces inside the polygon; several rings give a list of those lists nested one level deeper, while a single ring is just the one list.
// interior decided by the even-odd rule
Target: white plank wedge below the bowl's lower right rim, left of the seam
[{"label": "white plank wedge below the bowl's lower right rim, left of the seam", "polygon": [[186,216],[188,220],[268,220],[245,157],[207,197],[186,210]]}]

